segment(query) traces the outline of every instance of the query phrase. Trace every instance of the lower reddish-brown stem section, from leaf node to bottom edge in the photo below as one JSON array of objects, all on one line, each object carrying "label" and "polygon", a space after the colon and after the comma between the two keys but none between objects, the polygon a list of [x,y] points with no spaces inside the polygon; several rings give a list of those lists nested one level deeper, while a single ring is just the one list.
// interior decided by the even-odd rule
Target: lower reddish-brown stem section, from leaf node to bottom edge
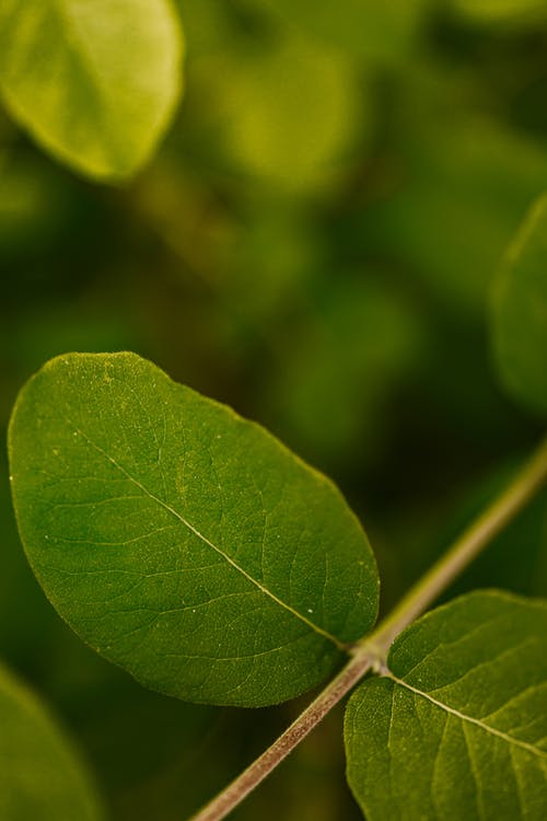
[{"label": "lower reddish-brown stem section, from leaf node to bottom edge", "polygon": [[371,668],[368,654],[353,656],[291,726],[191,821],[221,821],[286,759]]}]

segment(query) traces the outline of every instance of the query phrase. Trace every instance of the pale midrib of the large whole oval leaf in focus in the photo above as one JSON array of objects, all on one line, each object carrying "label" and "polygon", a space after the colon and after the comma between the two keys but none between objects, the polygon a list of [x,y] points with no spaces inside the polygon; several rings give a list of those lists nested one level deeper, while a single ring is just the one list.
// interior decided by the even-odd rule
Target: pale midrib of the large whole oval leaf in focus
[{"label": "pale midrib of the large whole oval leaf in focus", "polygon": [[172,516],[174,516],[182,524],[184,524],[194,535],[196,535],[198,539],[200,539],[205,544],[207,544],[209,547],[211,547],[216,553],[218,553],[222,558],[224,558],[225,562],[228,562],[231,567],[233,567],[235,570],[242,574],[247,581],[249,581],[252,585],[254,585],[258,590],[260,590],[261,593],[267,595],[269,599],[271,599],[276,604],[278,604],[280,608],[283,608],[283,610],[287,610],[289,613],[291,613],[293,616],[295,616],[299,621],[303,622],[307,627],[314,631],[314,633],[317,633],[319,636],[323,636],[323,638],[328,639],[331,641],[338,650],[342,650],[345,652],[348,651],[348,645],[340,641],[336,636],[328,633],[328,631],[324,629],[323,627],[319,627],[319,625],[312,622],[310,618],[307,618],[302,613],[299,613],[298,610],[294,610],[290,604],[288,604],[286,601],[280,599],[278,595],[276,595],[271,590],[268,590],[267,587],[265,587],[258,579],[255,579],[251,574],[248,574],[244,567],[237,564],[231,556],[228,555],[228,553],[224,553],[223,550],[218,547],[213,542],[210,541],[203,533],[201,533],[191,522],[189,522],[176,508],[168,505],[168,502],[164,501],[161,497],[153,494],[151,490],[148,489],[146,485],[143,485],[139,479],[137,479],[135,476],[132,476],[123,465],[119,464],[110,454],[105,451],[103,448],[101,448],[100,444],[93,441],[88,433],[85,433],[81,428],[75,426],[72,421],[69,420],[69,424],[72,426],[73,430],[81,436],[90,447],[92,447],[97,453],[101,453],[110,464],[113,464],[126,478],[129,479],[136,487],[138,487],[143,494],[146,494],[150,499],[155,501],[158,505],[160,505],[164,510],[170,512]]}]

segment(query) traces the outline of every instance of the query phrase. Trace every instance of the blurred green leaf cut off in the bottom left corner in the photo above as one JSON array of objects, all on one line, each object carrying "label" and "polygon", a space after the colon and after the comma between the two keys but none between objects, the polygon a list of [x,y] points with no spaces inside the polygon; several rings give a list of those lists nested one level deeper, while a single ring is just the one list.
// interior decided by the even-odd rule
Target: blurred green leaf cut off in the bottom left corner
[{"label": "blurred green leaf cut off in the bottom left corner", "polygon": [[98,821],[75,751],[38,699],[0,664],[0,818]]}]

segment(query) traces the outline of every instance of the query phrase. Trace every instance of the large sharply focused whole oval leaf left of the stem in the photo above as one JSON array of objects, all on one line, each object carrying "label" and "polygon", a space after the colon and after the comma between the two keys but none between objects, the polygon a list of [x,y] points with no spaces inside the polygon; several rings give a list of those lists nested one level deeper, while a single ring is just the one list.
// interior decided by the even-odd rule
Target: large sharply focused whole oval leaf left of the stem
[{"label": "large sharply focused whole oval leaf left of the stem", "polygon": [[133,354],[47,363],[15,405],[10,458],[47,595],[148,686],[279,702],[374,622],[374,558],[333,484]]}]

